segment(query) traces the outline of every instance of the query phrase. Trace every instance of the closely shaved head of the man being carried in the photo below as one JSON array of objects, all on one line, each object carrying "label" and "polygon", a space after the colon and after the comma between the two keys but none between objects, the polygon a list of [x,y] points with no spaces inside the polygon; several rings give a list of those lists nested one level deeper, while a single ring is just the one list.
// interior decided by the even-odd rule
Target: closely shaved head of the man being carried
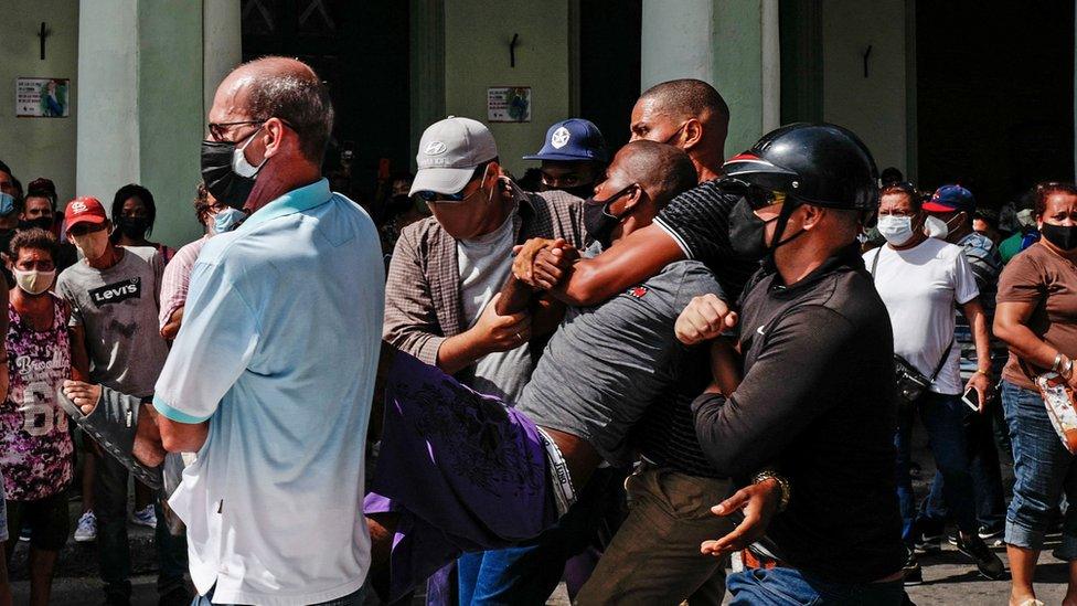
[{"label": "closely shaved head of the man being carried", "polygon": [[647,190],[658,209],[696,185],[692,159],[684,150],[670,145],[646,139],[632,141],[617,152],[614,162]]}]

